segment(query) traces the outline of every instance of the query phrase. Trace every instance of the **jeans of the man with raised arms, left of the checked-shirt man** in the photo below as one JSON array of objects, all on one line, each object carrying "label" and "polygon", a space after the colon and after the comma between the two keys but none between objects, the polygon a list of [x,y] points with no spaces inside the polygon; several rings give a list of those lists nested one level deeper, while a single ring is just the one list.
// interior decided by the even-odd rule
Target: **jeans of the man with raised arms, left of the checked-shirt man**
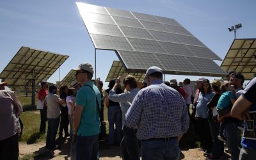
[{"label": "jeans of the man with raised arms, left of the checked-shirt man", "polygon": [[140,160],[137,129],[130,129],[124,126],[124,137],[121,141],[123,160]]}]

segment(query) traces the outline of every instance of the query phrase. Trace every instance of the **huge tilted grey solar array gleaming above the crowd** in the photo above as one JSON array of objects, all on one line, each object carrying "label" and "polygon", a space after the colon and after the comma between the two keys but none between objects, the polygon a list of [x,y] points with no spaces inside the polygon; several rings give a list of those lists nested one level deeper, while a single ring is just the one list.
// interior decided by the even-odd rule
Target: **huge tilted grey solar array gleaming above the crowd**
[{"label": "huge tilted grey solar array gleaming above the crowd", "polygon": [[[180,62],[183,63],[180,66],[183,67],[181,69],[189,68],[196,75],[200,73],[200,70],[197,70],[198,66],[194,66],[193,61],[207,59],[207,61],[213,64],[214,61],[212,60],[221,60],[211,49],[207,48],[174,19],[116,10],[86,3],[77,3],[77,7],[92,38],[95,49],[114,50],[118,51],[116,52],[117,54],[120,53],[119,51],[124,51],[132,55],[132,57],[126,56],[126,58],[122,59],[127,69],[132,67],[132,69],[136,70],[134,61],[136,61],[135,59],[141,52],[147,55],[154,53],[154,56],[150,58],[152,60],[150,64],[156,65],[156,61],[158,61],[162,64],[159,67],[163,67],[166,64],[164,64],[164,61],[161,61],[161,58],[157,59],[156,54],[164,54],[165,61],[176,58],[180,59]],[[121,55],[118,56],[120,57]],[[122,54],[122,56],[125,55]],[[192,59],[189,60],[190,58]],[[127,66],[127,63],[131,65]],[[143,61],[143,63],[147,63],[148,66],[147,61]],[[213,72],[215,74],[224,74],[223,70],[216,63],[212,66],[214,66]],[[199,68],[202,67],[205,66],[201,65]],[[167,70],[170,68],[173,67],[163,69]],[[179,67],[176,68],[180,69]],[[143,68],[143,70],[145,69],[147,68]],[[188,74],[192,74],[190,70]],[[212,70],[207,70],[204,74],[212,76]]]}]

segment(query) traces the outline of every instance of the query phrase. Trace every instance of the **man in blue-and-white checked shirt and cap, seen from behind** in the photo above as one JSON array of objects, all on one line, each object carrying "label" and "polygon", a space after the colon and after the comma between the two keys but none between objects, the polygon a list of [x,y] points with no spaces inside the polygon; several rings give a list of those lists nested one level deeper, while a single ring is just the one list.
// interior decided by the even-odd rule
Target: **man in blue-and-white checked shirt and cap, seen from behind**
[{"label": "man in blue-and-white checked shirt and cap, seen from behind", "polygon": [[163,83],[161,68],[148,68],[144,81],[148,86],[134,97],[125,124],[138,127],[143,160],[179,159],[179,140],[189,127],[186,102],[177,90]]}]

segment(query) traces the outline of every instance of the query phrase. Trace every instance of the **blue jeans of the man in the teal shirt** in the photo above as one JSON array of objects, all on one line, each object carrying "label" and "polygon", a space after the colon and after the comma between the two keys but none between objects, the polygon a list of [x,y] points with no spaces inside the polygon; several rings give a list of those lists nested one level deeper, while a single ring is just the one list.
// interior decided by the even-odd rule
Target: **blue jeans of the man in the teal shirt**
[{"label": "blue jeans of the man in the teal shirt", "polygon": [[93,136],[78,136],[76,138],[76,159],[97,160],[99,159],[99,134]]}]

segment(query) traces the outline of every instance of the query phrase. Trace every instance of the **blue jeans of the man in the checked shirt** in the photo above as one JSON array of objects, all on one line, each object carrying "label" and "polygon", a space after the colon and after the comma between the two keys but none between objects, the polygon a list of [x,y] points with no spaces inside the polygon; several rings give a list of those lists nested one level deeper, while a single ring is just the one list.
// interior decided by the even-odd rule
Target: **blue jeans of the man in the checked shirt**
[{"label": "blue jeans of the man in the checked shirt", "polygon": [[172,140],[143,140],[141,142],[143,160],[178,160],[180,158],[179,142]]}]

